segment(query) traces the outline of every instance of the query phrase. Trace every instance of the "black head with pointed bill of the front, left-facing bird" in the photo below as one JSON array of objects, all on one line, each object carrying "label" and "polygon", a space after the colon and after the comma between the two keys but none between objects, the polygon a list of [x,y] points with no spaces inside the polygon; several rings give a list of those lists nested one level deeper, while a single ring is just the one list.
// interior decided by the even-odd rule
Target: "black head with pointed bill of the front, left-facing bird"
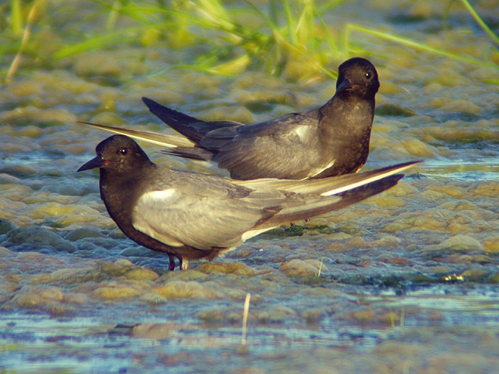
[{"label": "black head with pointed bill of the front, left-facing bird", "polygon": [[96,154],[97,157],[82,165],[78,171],[100,168],[121,174],[152,164],[146,152],[125,135],[113,135],[101,141],[96,147]]}]

